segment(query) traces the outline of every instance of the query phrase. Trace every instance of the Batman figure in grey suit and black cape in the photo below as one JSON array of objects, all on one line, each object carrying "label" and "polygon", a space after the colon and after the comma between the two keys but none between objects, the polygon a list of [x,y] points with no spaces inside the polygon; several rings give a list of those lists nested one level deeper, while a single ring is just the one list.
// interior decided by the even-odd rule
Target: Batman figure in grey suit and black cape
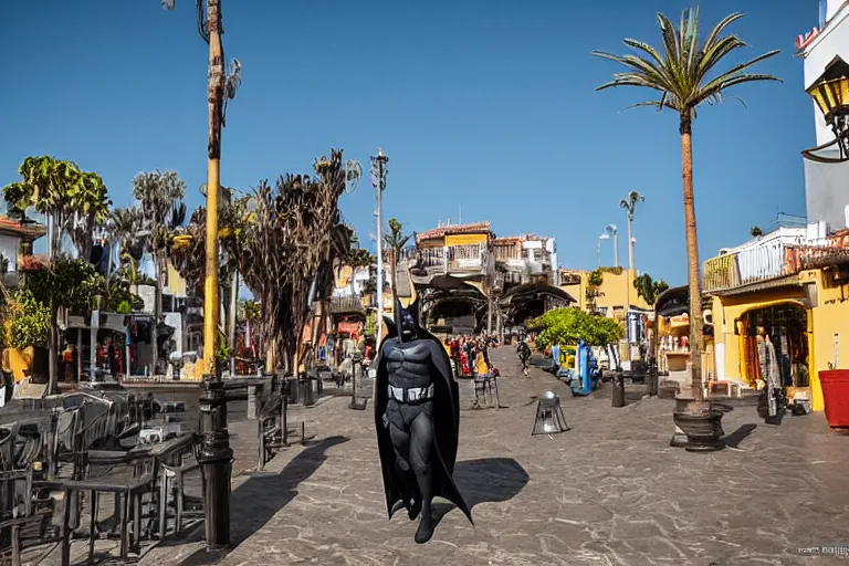
[{"label": "Batman figure in grey suit and black cape", "polygon": [[[410,289],[412,287],[410,282]],[[416,317],[415,291],[380,344],[375,381],[375,426],[389,518],[400,507],[421,516],[416,542],[433,535],[431,502],[444,497],[474,525],[453,480],[460,423],[457,381],[446,348]]]}]

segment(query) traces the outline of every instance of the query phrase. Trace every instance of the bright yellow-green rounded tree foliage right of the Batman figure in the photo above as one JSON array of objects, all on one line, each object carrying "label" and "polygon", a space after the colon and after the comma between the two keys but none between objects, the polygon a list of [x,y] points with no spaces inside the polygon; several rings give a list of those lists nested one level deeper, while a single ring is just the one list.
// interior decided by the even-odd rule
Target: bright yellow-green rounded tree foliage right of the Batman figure
[{"label": "bright yellow-green rounded tree foliage right of the Batman figure", "polygon": [[548,311],[533,319],[531,326],[543,328],[536,335],[536,346],[541,349],[554,344],[577,344],[578,340],[590,346],[607,346],[625,336],[622,326],[612,318],[588,314],[574,306]]}]

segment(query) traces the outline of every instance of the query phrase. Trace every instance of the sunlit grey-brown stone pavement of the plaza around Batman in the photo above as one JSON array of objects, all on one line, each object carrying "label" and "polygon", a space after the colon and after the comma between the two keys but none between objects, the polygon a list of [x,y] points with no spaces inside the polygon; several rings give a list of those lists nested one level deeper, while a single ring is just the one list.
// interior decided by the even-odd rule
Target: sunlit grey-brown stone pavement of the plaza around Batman
[{"label": "sunlit grey-brown stone pavement of the plaza around Batman", "polygon": [[[493,360],[506,408],[464,409],[461,418],[455,479],[474,527],[439,504],[433,539],[416,545],[403,513],[387,521],[371,411],[335,398],[292,413],[315,434],[306,447],[235,479],[229,555],[206,556],[196,537],[144,563],[849,564],[797,551],[849,544],[849,438],[821,415],[771,427],[738,407],[723,419],[727,449],[690,453],[669,447],[670,400],[615,409],[609,387],[573,398],[538,369],[510,377],[518,375],[513,348],[495,349]],[[461,388],[468,408],[471,384]],[[560,395],[572,430],[530,437],[533,399],[548,389]],[[639,386],[630,392],[639,398]],[[237,441],[250,437],[240,430],[249,426],[234,426]]]}]

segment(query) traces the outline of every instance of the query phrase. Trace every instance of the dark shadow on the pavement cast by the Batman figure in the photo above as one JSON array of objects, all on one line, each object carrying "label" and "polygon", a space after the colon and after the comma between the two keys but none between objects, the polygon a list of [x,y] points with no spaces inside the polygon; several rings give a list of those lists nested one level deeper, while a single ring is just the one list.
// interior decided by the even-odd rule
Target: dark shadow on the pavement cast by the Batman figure
[{"label": "dark shadow on the pavement cast by the Batman figure", "polygon": [[[482,458],[457,462],[454,482],[469,509],[474,512],[479,503],[510,501],[524,489],[530,476],[512,458]],[[433,520],[439,525],[442,517],[454,509],[451,503],[434,503]],[[474,514],[472,514],[474,518]]]}]

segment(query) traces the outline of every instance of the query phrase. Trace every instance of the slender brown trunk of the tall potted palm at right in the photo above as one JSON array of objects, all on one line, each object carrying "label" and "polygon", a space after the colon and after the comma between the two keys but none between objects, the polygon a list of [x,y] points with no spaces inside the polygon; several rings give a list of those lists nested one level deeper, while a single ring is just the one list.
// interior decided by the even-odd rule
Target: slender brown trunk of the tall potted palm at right
[{"label": "slender brown trunk of the tall potted palm at right", "polygon": [[[704,399],[702,390],[702,290],[699,265],[699,241],[695,231],[695,201],[693,198],[692,120],[681,115],[681,158],[684,186],[684,230],[686,234],[686,276],[690,286],[690,365],[692,396],[696,403]],[[693,407],[695,410],[696,407]]]}]

